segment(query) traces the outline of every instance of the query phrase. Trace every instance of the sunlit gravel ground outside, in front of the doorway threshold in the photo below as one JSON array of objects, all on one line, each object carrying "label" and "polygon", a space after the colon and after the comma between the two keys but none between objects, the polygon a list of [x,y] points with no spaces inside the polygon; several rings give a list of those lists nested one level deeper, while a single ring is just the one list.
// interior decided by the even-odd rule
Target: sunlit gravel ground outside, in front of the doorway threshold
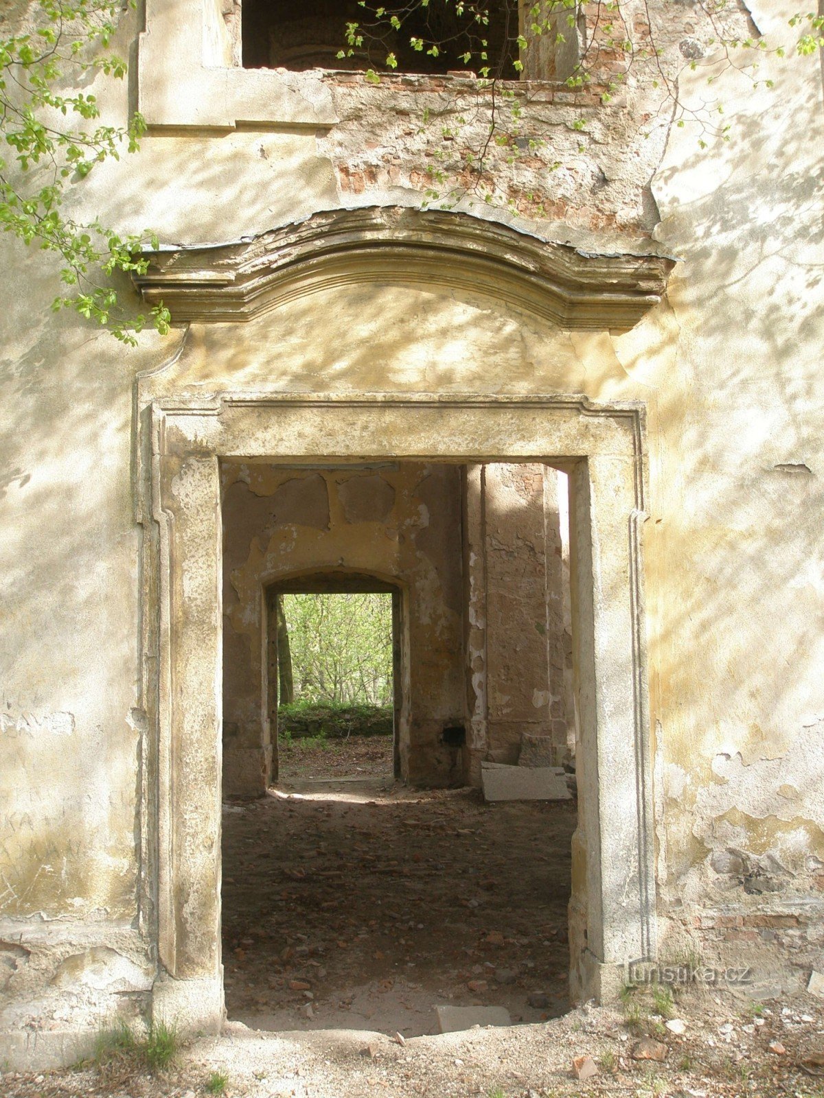
[{"label": "sunlit gravel ground outside, in front of the doorway threshold", "polygon": [[[582,1007],[534,1026],[413,1038],[352,1030],[260,1033],[234,1022],[216,1039],[178,1054],[167,1072],[127,1065],[38,1076],[0,1076],[9,1098],[200,1098],[225,1078],[229,1098],[817,1098],[824,1095],[824,1013],[820,1000],[754,1007],[732,996],[676,999],[683,1033],[649,1016],[666,1052],[636,1060],[637,1026],[623,1010]],[[754,1013],[759,1011],[759,1013]],[[805,1020],[806,1019],[806,1020]],[[662,1033],[658,1032],[662,1029]],[[771,1047],[777,1051],[771,1051]],[[781,1051],[782,1050],[782,1051]],[[592,1057],[597,1074],[572,1072]],[[216,1078],[215,1078],[216,1077]]]}]

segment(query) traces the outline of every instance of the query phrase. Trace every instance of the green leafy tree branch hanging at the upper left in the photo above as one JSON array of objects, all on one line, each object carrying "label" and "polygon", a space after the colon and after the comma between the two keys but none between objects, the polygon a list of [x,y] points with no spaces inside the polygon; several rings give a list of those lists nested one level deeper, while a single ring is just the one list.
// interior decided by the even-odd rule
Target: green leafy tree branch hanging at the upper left
[{"label": "green leafy tree branch hanging at the upper left", "polygon": [[111,0],[38,0],[36,30],[0,40],[0,143],[10,150],[0,155],[0,226],[58,257],[64,290],[55,310],[71,309],[134,345],[149,321],[168,332],[168,310],[160,304],[148,317],[130,316],[105,280],[145,271],[138,253],[147,242],[156,248],[156,238],[121,236],[99,219],[78,222],[63,209],[97,165],[137,152],[146,128],[138,113],[126,126],[98,124],[94,96],[62,90],[90,71],[123,79],[125,61],[108,52],[120,8]]}]

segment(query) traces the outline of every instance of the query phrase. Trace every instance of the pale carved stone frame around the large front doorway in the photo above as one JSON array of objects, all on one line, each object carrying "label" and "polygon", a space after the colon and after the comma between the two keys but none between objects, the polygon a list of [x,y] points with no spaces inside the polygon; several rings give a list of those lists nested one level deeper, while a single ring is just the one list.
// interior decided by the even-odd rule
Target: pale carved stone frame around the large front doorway
[{"label": "pale carved stone frame around the large front doorway", "polygon": [[[174,382],[172,382],[174,384]],[[141,478],[145,696],[156,729],[156,1017],[220,1028],[222,772],[221,461],[543,460],[570,477],[579,818],[572,843],[574,998],[617,994],[656,950],[641,528],[642,405],[577,396],[450,394],[155,395]],[[148,486],[148,484],[147,484]]]}]

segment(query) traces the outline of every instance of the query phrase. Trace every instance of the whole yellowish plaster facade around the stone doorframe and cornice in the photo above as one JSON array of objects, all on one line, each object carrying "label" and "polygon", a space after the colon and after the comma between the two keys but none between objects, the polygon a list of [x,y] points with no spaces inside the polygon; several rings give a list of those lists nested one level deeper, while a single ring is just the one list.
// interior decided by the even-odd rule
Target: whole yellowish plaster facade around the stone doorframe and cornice
[{"label": "whole yellowish plaster facade around the stone doorframe and cornice", "polygon": [[[645,142],[628,121],[633,92],[615,108],[617,145],[614,114],[580,136],[575,103],[564,114],[544,104],[547,155],[569,165],[548,183],[548,214],[472,208],[595,250],[643,243],[655,225],[680,262],[667,301],[627,333],[560,330],[460,290],[341,285],[247,325],[147,333],[125,352],[49,311],[49,257],[0,239],[0,1031],[12,1034],[10,1055],[71,1058],[66,1034],[93,1032],[124,1008],[113,991],[53,983],[69,957],[89,953],[94,972],[121,966],[94,950],[141,972],[154,965],[156,729],[141,685],[153,659],[143,648],[152,614],[141,608],[152,576],[141,550],[156,527],[141,509],[138,378],[144,401],[277,389],[643,403],[661,949],[751,959],[758,994],[793,990],[820,964],[822,86],[817,61],[793,56],[792,4],[751,9],[789,56],[760,59],[776,92],[719,75],[730,141],[701,150],[693,126],[670,132],[661,116]],[[122,55],[136,32],[125,14]],[[699,102],[711,72],[711,56],[684,70],[681,94]],[[97,77],[85,90],[104,122],[124,123],[125,86]],[[392,164],[410,136],[396,122],[366,148],[367,108],[357,92],[342,128],[316,133],[154,132],[137,158],[96,168],[66,211],[122,232],[151,226],[174,244],[234,239],[342,205],[420,203],[420,152]],[[608,189],[595,186],[598,169]],[[512,187],[527,187],[528,171]],[[36,1049],[25,1026],[40,1028]]]}]

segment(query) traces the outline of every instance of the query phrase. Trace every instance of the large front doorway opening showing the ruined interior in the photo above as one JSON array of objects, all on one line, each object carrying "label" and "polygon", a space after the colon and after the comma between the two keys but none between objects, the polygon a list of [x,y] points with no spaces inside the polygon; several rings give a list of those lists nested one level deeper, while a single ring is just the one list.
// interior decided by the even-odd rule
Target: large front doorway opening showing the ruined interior
[{"label": "large front doorway opening showing the ruined interior", "polygon": [[[230,1018],[413,1037],[466,1009],[564,1013],[566,474],[226,461],[222,478]],[[346,769],[332,727],[334,706],[361,701],[391,718],[391,736],[363,737],[387,744],[379,773]]]}]

